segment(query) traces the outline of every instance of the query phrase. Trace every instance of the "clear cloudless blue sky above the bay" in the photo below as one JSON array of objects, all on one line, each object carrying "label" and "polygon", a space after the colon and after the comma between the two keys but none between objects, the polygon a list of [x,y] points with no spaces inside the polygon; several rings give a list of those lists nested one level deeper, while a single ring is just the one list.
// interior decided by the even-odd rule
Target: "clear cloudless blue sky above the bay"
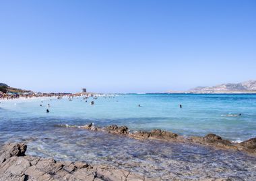
[{"label": "clear cloudless blue sky above the bay", "polygon": [[162,92],[256,79],[256,1],[0,1],[0,82]]}]

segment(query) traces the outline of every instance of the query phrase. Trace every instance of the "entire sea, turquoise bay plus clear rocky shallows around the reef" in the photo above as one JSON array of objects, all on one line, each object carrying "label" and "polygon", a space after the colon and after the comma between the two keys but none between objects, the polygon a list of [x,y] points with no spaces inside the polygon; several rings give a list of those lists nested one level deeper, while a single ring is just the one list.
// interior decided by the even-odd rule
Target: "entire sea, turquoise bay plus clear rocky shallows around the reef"
[{"label": "entire sea, turquoise bay plus clear rocky shallows around the reef", "polygon": [[[0,102],[0,145],[25,141],[30,155],[112,164],[166,180],[170,175],[193,180],[205,174],[256,179],[256,158],[241,152],[59,127],[117,124],[131,131],[164,129],[185,136],[216,133],[239,142],[256,137],[256,95],[127,94],[88,102],[83,97]],[[193,169],[201,171],[191,176]]]}]

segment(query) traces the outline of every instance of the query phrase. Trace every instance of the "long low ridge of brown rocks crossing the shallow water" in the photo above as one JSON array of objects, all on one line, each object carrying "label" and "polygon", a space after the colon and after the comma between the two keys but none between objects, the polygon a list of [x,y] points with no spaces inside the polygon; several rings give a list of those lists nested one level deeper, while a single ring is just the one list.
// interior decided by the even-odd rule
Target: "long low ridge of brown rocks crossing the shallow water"
[{"label": "long low ridge of brown rocks crossing the shallow water", "polygon": [[219,135],[210,133],[204,137],[191,136],[184,137],[177,135],[170,131],[163,131],[161,129],[153,129],[152,131],[130,131],[127,126],[109,125],[107,127],[96,127],[92,123],[84,126],[76,125],[59,125],[61,127],[88,129],[91,131],[106,131],[108,133],[125,135],[134,139],[157,139],[161,141],[172,141],[179,143],[193,143],[205,146],[212,146],[218,149],[234,149],[241,152],[246,152],[256,156],[256,137],[243,141],[241,143],[234,143],[227,139],[222,139]]}]

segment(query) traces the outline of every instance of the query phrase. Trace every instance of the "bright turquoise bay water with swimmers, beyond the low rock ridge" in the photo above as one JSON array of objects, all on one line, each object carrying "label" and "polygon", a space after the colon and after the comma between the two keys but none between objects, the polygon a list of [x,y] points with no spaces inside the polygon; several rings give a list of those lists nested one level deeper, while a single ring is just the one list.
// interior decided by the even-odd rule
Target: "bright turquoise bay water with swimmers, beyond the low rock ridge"
[{"label": "bright turquoise bay water with swimmers, beyond the low rock ridge", "polygon": [[[71,125],[115,123],[133,130],[159,128],[181,135],[216,133],[232,141],[256,137],[256,95],[117,95],[90,98],[87,103],[81,97],[73,101],[42,98],[0,102],[1,119],[31,119],[33,128],[47,118],[49,126],[61,119],[61,123]],[[47,107],[49,103],[51,107]],[[46,114],[46,109],[51,112]],[[239,113],[242,115],[234,116]]]}]

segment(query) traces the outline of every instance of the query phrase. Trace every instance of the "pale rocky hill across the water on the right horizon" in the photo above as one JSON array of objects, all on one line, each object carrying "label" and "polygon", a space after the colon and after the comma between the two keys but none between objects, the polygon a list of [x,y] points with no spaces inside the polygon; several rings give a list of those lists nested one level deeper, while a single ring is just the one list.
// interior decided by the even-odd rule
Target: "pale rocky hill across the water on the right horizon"
[{"label": "pale rocky hill across the water on the right horizon", "polygon": [[197,86],[188,93],[256,93],[256,80],[241,83],[219,84],[216,86]]}]

